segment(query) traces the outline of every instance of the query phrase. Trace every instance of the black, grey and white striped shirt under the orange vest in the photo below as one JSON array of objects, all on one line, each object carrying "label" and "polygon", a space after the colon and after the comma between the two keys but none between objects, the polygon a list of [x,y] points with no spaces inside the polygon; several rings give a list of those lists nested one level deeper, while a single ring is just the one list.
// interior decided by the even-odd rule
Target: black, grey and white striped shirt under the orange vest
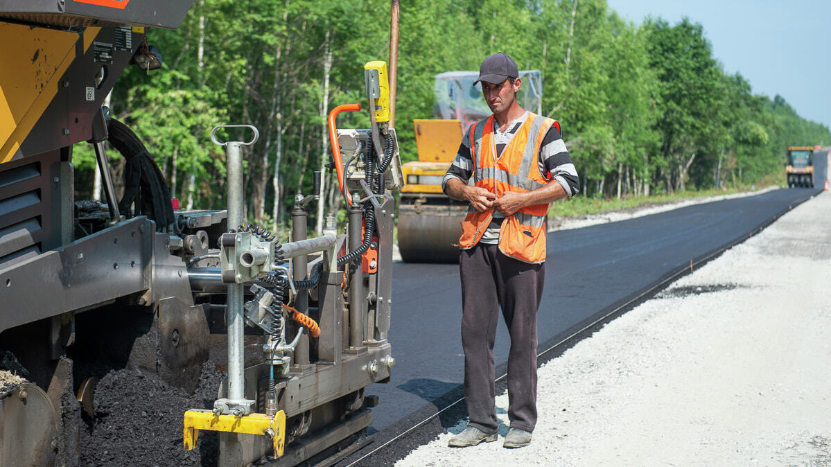
[{"label": "black, grey and white striped shirt under the orange vest", "polygon": [[[499,129],[499,125],[495,124],[494,119],[494,145],[496,146],[496,155],[502,154],[505,146],[514,138],[519,127],[523,125],[528,118],[529,112],[526,111],[523,116],[517,120],[512,121],[508,125],[507,131]],[[445,189],[447,181],[451,178],[460,179],[467,184],[470,177],[473,176],[475,167],[473,157],[470,154],[470,130],[476,125],[471,125],[462,142],[459,145],[459,152],[456,153],[456,158],[450,169],[447,170],[445,178],[441,182],[441,189]],[[563,136],[560,135],[559,130],[554,125],[545,134],[542,144],[539,146],[539,154],[537,159],[539,165],[539,172],[546,179],[550,181],[556,180],[558,184],[563,186],[569,198],[578,194],[580,191],[580,180],[578,178],[577,170],[574,168],[571,156],[568,155],[568,150],[563,142]],[[499,238],[499,223],[502,221],[502,215],[499,212],[494,212],[494,222],[491,223],[488,232],[484,234],[482,242],[496,243]]]}]

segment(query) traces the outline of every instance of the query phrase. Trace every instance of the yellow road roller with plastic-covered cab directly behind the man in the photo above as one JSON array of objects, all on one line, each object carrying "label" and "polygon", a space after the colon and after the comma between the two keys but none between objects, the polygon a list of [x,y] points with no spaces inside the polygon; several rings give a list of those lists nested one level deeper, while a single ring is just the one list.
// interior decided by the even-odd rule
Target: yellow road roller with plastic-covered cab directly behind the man
[{"label": "yellow road roller with plastic-covered cab directly behind the man", "polygon": [[[540,113],[543,80],[538,70],[519,71],[522,78],[517,99],[524,109]],[[402,170],[406,185],[401,188],[398,209],[398,249],[408,263],[458,263],[461,221],[467,203],[450,199],[441,190],[462,137],[491,112],[474,85],[479,71],[447,71],[435,76],[433,119],[416,119],[418,160]],[[472,183],[472,180],[470,180]]]}]

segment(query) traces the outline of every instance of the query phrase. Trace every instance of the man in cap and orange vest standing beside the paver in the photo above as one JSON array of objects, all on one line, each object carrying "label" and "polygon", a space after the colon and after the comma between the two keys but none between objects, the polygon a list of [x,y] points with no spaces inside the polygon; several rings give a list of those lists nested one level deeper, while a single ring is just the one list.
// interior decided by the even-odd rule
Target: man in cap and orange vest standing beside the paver
[{"label": "man in cap and orange vest standing beside the paver", "polygon": [[517,103],[522,80],[511,57],[485,58],[476,82],[493,115],[470,126],[442,180],[445,194],[470,203],[459,240],[470,421],[449,445],[497,440],[493,349],[501,308],[511,337],[504,447],[518,448],[529,445],[537,422],[537,310],[548,204],[578,194],[579,180],[558,122]]}]

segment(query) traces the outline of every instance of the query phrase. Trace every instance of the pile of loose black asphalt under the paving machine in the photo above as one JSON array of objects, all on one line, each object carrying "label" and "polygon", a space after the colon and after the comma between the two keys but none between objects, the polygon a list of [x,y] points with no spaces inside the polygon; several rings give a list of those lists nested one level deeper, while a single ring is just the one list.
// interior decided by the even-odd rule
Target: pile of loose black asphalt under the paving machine
[{"label": "pile of loose black asphalt under the paving machine", "polygon": [[157,375],[110,371],[96,386],[96,416],[81,429],[81,465],[216,465],[218,439],[201,431],[194,450],[182,445],[183,416],[208,409],[224,376],[205,362],[194,394],[169,386]]}]

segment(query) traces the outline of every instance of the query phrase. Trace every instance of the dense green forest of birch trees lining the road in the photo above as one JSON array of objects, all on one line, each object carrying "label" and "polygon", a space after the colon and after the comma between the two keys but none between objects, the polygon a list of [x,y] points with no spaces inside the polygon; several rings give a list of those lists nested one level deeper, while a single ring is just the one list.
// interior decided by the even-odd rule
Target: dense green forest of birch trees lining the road
[{"label": "dense green forest of birch trees lining the road", "polygon": [[[243,152],[247,217],[282,230],[294,194],[309,194],[312,171],[329,160],[328,111],[363,102],[364,64],[388,60],[390,8],[386,0],[197,0],[178,30],[150,30],[164,65],[125,71],[112,116],[145,142],[188,209],[225,205],[214,125],[256,125],[260,140]],[[635,25],[605,0],[408,0],[400,18],[402,162],[417,158],[412,120],[432,116],[434,76],[478,70],[494,52],[542,71],[543,115],[562,125],[586,198],[784,183],[788,145],[831,143],[827,126],[726,73],[701,25],[687,19]],[[369,120],[343,114],[338,125]],[[120,180],[123,160],[108,154]],[[76,186],[90,187],[76,195],[90,198],[90,145],[77,145],[73,160]],[[342,204],[333,180],[324,184],[326,212]]]}]

